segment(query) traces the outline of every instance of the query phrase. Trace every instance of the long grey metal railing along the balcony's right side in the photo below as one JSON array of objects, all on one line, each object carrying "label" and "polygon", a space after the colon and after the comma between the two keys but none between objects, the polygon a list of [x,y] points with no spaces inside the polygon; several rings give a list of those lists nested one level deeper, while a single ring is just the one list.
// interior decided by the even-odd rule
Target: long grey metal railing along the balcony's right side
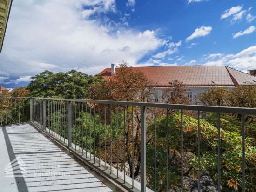
[{"label": "long grey metal railing along the balcony's right side", "polygon": [[[1,98],[2,99],[2,98]],[[6,98],[4,98],[6,99]],[[27,99],[27,98],[24,98]],[[3,100],[3,99],[2,99]],[[89,166],[104,173],[128,191],[150,191],[147,188],[146,172],[146,150],[150,138],[146,134],[147,123],[154,125],[154,134],[150,135],[154,143],[154,177],[157,191],[157,150],[156,139],[157,112],[166,117],[166,187],[169,189],[169,124],[168,116],[171,113],[181,113],[181,191],[184,189],[184,152],[183,152],[183,117],[184,113],[191,112],[197,119],[197,185],[200,189],[201,165],[201,127],[200,119],[205,116],[205,112],[213,112],[217,115],[217,156],[218,156],[218,191],[221,192],[221,114],[231,113],[241,116],[241,137],[242,137],[242,191],[245,192],[248,186],[246,182],[246,159],[245,159],[245,123],[244,118],[248,115],[256,115],[255,108],[237,108],[220,106],[194,106],[194,105],[175,105],[162,103],[141,103],[141,102],[122,102],[122,101],[102,101],[84,99],[56,99],[56,98],[31,98],[30,99],[30,122],[47,132],[57,141],[66,145],[71,152],[84,160]],[[158,111],[157,111],[158,110]],[[161,111],[162,110],[162,111]],[[206,114],[207,116],[207,114]],[[136,119],[136,121],[135,121]],[[120,127],[121,126],[121,127]],[[139,127],[139,133],[135,126]],[[106,127],[108,127],[106,129]],[[131,130],[128,132],[128,129]],[[109,131],[110,130],[110,131]],[[135,138],[135,134],[139,138]],[[137,139],[137,140],[135,140]],[[140,141],[140,154],[135,157],[135,143]],[[128,145],[130,143],[130,145]],[[136,143],[138,144],[138,143]],[[162,145],[162,144],[161,144]],[[128,149],[129,147],[129,149]],[[131,166],[127,171],[127,159],[132,159]],[[135,165],[134,159],[137,159]],[[161,159],[160,159],[161,160]],[[139,174],[135,167],[140,163]],[[130,165],[130,164],[129,164]],[[134,174],[137,174],[137,180]],[[129,174],[130,173],[130,174]],[[139,176],[139,177],[138,177]],[[138,179],[139,178],[139,179]],[[253,185],[253,184],[251,184]],[[152,188],[152,187],[151,187]]]}]

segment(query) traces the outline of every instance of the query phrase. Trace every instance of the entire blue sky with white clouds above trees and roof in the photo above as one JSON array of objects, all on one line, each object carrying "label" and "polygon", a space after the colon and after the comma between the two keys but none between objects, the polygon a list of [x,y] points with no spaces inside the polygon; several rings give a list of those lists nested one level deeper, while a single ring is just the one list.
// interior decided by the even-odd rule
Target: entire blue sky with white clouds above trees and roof
[{"label": "entire blue sky with white clouds above trees and roof", "polygon": [[13,0],[0,86],[45,70],[131,66],[256,68],[256,0]]}]

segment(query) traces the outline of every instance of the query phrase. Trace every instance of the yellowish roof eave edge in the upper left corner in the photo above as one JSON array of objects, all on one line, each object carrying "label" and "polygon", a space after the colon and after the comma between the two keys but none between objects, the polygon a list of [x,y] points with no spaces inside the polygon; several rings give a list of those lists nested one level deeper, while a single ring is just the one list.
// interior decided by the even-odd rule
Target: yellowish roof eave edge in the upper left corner
[{"label": "yellowish roof eave edge in the upper left corner", "polygon": [[0,0],[0,53],[2,52],[7,23],[13,0]]}]

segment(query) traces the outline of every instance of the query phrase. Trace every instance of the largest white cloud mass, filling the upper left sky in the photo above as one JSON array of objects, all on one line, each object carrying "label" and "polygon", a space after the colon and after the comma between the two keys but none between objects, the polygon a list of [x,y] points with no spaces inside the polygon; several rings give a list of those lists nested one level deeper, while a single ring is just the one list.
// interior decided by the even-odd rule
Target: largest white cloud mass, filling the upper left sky
[{"label": "largest white cloud mass, filling the upper left sky", "polygon": [[[88,12],[84,7],[90,7]],[[11,74],[17,80],[44,70],[71,69],[94,75],[121,60],[136,66],[162,46],[164,40],[155,31],[133,30],[121,20],[115,23],[97,17],[116,12],[115,0],[13,1],[0,76]]]}]

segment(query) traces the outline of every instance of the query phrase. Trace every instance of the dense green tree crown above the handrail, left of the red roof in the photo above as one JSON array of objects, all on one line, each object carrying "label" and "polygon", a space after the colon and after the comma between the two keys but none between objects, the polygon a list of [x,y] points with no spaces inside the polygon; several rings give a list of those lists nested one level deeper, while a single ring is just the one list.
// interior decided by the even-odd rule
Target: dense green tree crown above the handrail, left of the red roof
[{"label": "dense green tree crown above the handrail, left of the red roof", "polygon": [[88,98],[88,87],[99,78],[71,70],[67,73],[44,71],[31,77],[27,89],[32,97],[51,97],[65,99]]}]

